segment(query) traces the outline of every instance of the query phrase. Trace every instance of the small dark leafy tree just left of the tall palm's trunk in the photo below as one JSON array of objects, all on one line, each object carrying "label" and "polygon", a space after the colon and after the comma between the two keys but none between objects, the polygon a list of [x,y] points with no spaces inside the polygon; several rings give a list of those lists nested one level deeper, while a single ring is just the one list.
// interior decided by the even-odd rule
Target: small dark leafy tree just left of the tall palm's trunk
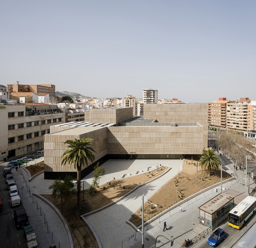
[{"label": "small dark leafy tree just left of the tall palm's trunk", "polygon": [[54,202],[57,202],[58,199],[61,200],[61,212],[63,211],[63,205],[68,200],[70,201],[76,193],[73,178],[69,175],[66,175],[64,180],[61,180],[61,178],[54,180],[49,189],[52,190]]}]

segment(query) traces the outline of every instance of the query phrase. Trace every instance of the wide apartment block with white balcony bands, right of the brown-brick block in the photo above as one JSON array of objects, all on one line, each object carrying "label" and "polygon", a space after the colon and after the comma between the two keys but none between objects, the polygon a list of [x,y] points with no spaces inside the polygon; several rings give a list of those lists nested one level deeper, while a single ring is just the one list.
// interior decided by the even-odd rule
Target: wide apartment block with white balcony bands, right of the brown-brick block
[{"label": "wide apartment block with white balcony bands, right of the brown-brick block", "polygon": [[248,97],[227,103],[226,127],[229,130],[248,131]]}]

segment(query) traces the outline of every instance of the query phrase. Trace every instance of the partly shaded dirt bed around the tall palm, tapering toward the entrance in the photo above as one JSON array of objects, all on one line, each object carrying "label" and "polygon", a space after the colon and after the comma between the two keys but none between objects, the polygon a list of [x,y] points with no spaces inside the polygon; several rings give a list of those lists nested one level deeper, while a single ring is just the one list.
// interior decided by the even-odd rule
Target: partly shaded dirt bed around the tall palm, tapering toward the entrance
[{"label": "partly shaded dirt bed around the tall palm, tapering toward the entrance", "polygon": [[[95,194],[92,196],[89,194],[89,190],[81,192],[82,209],[77,214],[77,197],[74,197],[71,202],[66,202],[63,206],[62,215],[65,218],[70,228],[70,233],[76,248],[92,247],[98,248],[98,243],[85,221],[80,218],[80,215],[91,212],[95,209],[99,209],[114,202],[118,198],[122,197],[127,192],[131,191],[134,187],[145,183],[169,169],[169,167],[162,166],[161,168],[149,171],[145,174],[130,177],[116,179],[109,183],[101,185]],[[84,197],[83,197],[84,195]],[[43,195],[48,201],[52,202],[59,210],[61,209],[60,202],[54,203],[51,195]],[[87,237],[85,245],[85,236]]]}]

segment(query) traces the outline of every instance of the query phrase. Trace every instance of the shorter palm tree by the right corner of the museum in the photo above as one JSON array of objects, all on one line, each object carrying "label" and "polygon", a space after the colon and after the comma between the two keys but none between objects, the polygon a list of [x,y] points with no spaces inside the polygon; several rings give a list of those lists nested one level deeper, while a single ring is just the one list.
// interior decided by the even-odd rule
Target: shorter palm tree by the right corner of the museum
[{"label": "shorter palm tree by the right corner of the museum", "polygon": [[215,170],[219,168],[220,160],[217,156],[217,152],[214,149],[204,149],[202,150],[201,158],[199,159],[201,167],[205,166],[209,170],[209,177],[210,177],[210,170]]}]

